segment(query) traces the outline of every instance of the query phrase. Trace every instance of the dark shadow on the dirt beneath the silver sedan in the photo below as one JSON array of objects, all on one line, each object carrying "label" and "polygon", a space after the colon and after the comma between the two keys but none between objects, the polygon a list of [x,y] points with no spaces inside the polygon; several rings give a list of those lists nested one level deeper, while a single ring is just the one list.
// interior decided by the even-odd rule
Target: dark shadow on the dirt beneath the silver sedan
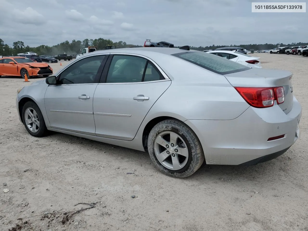
[{"label": "dark shadow on the dirt beneath the silver sedan", "polygon": [[[80,138],[76,136],[70,136],[63,133],[51,132],[51,137],[58,142],[68,142],[74,145],[88,145],[93,151],[100,152],[102,149],[106,150],[108,155],[114,158],[120,159],[130,159],[136,163],[136,169],[142,171],[140,168],[152,168],[153,172],[157,171],[154,168],[148,152],[141,152],[134,149],[123,148],[116,145],[106,144],[98,141],[88,140],[85,138]],[[290,149],[289,149],[290,150]],[[192,176],[185,178],[188,181],[202,181],[205,178],[207,180],[220,180],[223,182],[232,181],[257,181],[276,179],[280,181],[279,172],[289,172],[290,162],[288,161],[288,152],[284,153],[282,156],[277,157],[274,160],[269,160],[264,163],[259,163],[257,165],[207,165],[205,162],[202,164],[201,168],[197,170]],[[110,152],[109,152],[110,151]],[[140,167],[143,166],[143,167]],[[169,177],[169,176],[166,176]]]}]

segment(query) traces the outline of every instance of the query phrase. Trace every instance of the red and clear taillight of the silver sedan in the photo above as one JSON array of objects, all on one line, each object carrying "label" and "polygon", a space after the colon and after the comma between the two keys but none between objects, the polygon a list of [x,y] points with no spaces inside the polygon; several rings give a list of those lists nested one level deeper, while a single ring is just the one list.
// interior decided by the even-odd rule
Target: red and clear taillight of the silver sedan
[{"label": "red and clear taillight of the silver sedan", "polygon": [[253,107],[272,107],[274,101],[283,103],[285,92],[283,87],[234,87],[245,101]]}]

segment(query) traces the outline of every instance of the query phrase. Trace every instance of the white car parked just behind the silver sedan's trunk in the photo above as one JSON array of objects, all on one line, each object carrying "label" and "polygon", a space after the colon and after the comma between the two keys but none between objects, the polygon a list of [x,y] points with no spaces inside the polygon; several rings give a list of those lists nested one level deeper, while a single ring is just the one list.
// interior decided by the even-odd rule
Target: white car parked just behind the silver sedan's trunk
[{"label": "white car parked just behind the silver sedan's trunk", "polygon": [[211,53],[213,55],[217,55],[223,57],[225,59],[232,60],[233,62],[240,63],[247,67],[255,67],[262,68],[261,63],[259,61],[259,57],[251,57],[249,55],[245,55],[236,51],[208,51],[207,53]]}]

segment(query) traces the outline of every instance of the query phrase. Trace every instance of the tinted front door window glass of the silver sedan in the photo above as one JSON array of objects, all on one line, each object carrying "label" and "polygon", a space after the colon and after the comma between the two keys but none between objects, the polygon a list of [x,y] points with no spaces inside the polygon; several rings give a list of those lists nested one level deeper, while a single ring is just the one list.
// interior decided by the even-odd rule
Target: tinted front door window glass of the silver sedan
[{"label": "tinted front door window glass of the silver sedan", "polygon": [[94,83],[104,58],[98,55],[79,60],[61,73],[59,84]]}]

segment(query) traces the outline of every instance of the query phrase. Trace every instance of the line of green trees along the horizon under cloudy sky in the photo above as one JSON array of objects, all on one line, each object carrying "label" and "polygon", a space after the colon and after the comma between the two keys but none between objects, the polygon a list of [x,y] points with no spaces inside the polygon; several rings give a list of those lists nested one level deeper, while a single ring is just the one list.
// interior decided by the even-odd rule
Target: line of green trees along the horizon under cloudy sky
[{"label": "line of green trees along the horizon under cloudy sky", "polygon": [[[204,50],[215,50],[219,47],[244,47],[247,50],[270,50],[275,47],[294,47],[294,46],[304,46],[308,43],[277,43],[277,44],[240,44],[240,45],[212,45],[207,47],[193,47],[191,46],[191,50],[197,51],[204,51]],[[133,45],[127,44],[123,41],[113,42],[110,39],[84,39],[83,41],[80,40],[73,40],[71,43],[69,41],[65,41],[63,43],[59,43],[52,47],[47,45],[40,45],[39,47],[29,47],[24,44],[22,41],[17,41],[13,43],[13,47],[5,44],[2,39],[0,39],[0,55],[7,56],[7,55],[17,55],[18,53],[24,53],[27,51],[33,51],[38,55],[58,55],[58,54],[79,54],[80,49],[88,46],[95,46],[98,50],[105,49],[106,45],[115,45],[116,48],[126,48],[126,47],[142,47],[140,45]],[[179,48],[179,47],[177,47]]]}]

